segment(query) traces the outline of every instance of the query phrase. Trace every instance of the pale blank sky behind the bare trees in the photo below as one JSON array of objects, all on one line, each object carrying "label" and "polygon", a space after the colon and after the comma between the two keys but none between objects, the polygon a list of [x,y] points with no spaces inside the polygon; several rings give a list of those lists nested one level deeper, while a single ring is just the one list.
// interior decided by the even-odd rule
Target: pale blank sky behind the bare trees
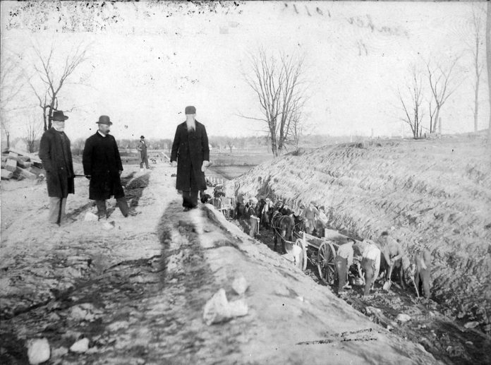
[{"label": "pale blank sky behind the bare trees", "polygon": [[[188,104],[195,105],[210,135],[262,133],[260,122],[237,115],[260,116],[244,80],[244,73],[250,74],[248,53],[259,47],[305,56],[304,118],[313,133],[331,135],[400,134],[394,90],[404,87],[411,64],[428,59],[446,64],[461,55],[456,70],[461,85],[442,108],[443,132],[473,130],[473,70],[466,51],[473,36],[472,4],[84,4],[1,1],[2,57],[23,53],[28,70],[35,61],[32,44],[43,52],[54,44],[58,61],[73,45],[90,44],[90,59],[61,92],[60,109],[76,106],[66,127],[72,140],[89,136],[100,114],[114,121],[116,138],[171,138]],[[484,62],[484,48],[481,55]],[[85,85],[78,84],[80,78]],[[481,85],[480,128],[485,128],[485,70]],[[27,107],[36,100],[27,89],[18,102]],[[31,113],[39,117],[40,109],[11,117],[18,126],[14,137]],[[428,118],[424,123],[428,127]]]}]

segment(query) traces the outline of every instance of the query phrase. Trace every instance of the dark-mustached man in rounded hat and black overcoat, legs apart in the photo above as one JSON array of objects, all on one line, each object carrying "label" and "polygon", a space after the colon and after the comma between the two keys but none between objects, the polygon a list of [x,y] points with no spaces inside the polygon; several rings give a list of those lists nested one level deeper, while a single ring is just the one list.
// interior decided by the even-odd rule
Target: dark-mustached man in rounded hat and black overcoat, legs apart
[{"label": "dark-mustached man in rounded hat and black overcoat, legs apart", "polygon": [[109,116],[99,117],[99,129],[87,138],[83,149],[83,172],[90,179],[89,199],[97,205],[99,220],[107,218],[106,200],[114,196],[123,216],[134,215],[128,208],[121,186],[123,164],[119,156],[118,145],[109,134],[112,125]]}]

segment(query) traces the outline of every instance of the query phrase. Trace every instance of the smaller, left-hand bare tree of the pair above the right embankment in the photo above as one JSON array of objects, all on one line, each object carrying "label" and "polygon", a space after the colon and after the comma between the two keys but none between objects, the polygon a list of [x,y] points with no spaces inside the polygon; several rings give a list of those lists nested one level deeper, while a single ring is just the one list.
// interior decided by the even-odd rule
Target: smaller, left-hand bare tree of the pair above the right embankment
[{"label": "smaller, left-hand bare tree of the pair above the right embankment", "polygon": [[423,131],[423,80],[416,66],[411,68],[411,80],[406,85],[406,90],[397,90],[397,96],[401,102],[404,116],[401,121],[411,127],[414,138],[420,138]]}]

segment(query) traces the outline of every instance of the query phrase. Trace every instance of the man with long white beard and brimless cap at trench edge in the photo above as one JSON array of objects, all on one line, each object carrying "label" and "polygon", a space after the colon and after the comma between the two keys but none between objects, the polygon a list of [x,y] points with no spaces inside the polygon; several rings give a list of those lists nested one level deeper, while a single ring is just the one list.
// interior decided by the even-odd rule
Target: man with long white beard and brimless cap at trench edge
[{"label": "man with long white beard and brimless cap at trench edge", "polygon": [[195,119],[196,108],[186,107],[185,112],[186,121],[176,128],[171,163],[177,166],[176,189],[183,193],[184,210],[190,210],[198,206],[198,191],[207,189],[210,148],[205,126]]}]

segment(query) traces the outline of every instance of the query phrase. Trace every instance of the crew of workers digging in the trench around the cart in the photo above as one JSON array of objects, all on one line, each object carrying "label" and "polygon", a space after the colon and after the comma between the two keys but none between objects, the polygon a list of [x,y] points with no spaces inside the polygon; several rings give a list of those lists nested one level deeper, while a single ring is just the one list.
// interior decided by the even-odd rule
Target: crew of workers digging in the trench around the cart
[{"label": "crew of workers digging in the trench around the cart", "polygon": [[[315,201],[311,201],[308,206],[301,204],[298,210],[293,211],[281,200],[273,202],[269,198],[261,198],[258,201],[257,198],[244,198],[241,193],[235,200],[225,198],[222,191],[215,189],[214,197],[209,203],[222,211],[226,208],[226,214],[239,220],[248,229],[250,237],[260,236],[260,227],[274,230],[274,216],[277,214],[290,215],[294,222],[293,229],[296,232],[303,231],[319,238],[324,237],[328,223],[325,207],[317,206]],[[355,252],[358,253],[356,256]],[[385,280],[384,289],[388,289],[392,283],[392,277],[395,276],[399,277],[403,289],[406,289],[406,285],[412,282],[418,297],[424,292],[424,296],[430,298],[432,265],[430,251],[423,249],[416,252],[411,262],[399,240],[392,238],[388,232],[382,232],[375,240],[356,241],[347,237],[344,243],[337,246],[334,261],[337,268],[339,294],[346,289],[351,289],[348,282],[348,271],[354,263],[353,268],[356,267],[355,273],[358,274],[358,280],[361,280],[360,284],[364,285],[364,295],[370,294],[370,291],[374,289],[375,281],[380,278]],[[379,277],[380,273],[382,273],[381,277]]]}]

